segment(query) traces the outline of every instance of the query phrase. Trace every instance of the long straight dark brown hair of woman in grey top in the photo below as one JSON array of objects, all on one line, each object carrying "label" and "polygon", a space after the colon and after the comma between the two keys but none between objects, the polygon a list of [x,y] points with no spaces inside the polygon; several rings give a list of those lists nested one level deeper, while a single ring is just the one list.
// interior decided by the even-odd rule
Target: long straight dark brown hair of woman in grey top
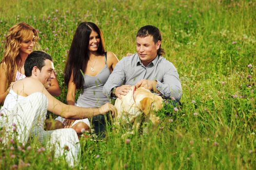
[{"label": "long straight dark brown hair of woman in grey top", "polygon": [[92,31],[97,32],[100,38],[97,50],[98,54],[102,55],[105,53],[103,35],[98,26],[92,22],[80,23],[72,40],[64,70],[64,80],[66,85],[68,85],[73,72],[73,82],[76,85],[76,88],[81,89],[84,86],[84,79],[81,71],[84,73],[86,64],[89,60],[88,46]]}]

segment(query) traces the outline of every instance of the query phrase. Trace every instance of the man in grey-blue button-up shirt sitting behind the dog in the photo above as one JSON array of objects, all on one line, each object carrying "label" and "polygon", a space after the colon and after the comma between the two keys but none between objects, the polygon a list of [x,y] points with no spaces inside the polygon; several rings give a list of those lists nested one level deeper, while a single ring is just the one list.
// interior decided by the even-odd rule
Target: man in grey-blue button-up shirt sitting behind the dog
[{"label": "man in grey-blue button-up shirt sitting behind the dog", "polygon": [[126,95],[131,85],[144,87],[164,98],[181,98],[181,84],[177,69],[163,58],[162,35],[157,27],[141,27],[136,36],[137,53],[122,58],[103,87],[108,97]]}]

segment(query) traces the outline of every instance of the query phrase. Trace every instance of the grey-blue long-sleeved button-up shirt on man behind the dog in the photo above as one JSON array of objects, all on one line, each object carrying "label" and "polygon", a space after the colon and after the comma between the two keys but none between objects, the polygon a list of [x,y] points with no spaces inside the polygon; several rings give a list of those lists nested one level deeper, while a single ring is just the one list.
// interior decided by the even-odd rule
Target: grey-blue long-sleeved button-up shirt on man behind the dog
[{"label": "grey-blue long-sleeved button-up shirt on man behind the dog", "polygon": [[137,53],[123,57],[103,86],[103,94],[110,97],[113,87],[136,85],[140,80],[156,80],[158,91],[166,98],[180,100],[182,90],[177,69],[162,56],[157,56],[148,66],[144,66]]}]

